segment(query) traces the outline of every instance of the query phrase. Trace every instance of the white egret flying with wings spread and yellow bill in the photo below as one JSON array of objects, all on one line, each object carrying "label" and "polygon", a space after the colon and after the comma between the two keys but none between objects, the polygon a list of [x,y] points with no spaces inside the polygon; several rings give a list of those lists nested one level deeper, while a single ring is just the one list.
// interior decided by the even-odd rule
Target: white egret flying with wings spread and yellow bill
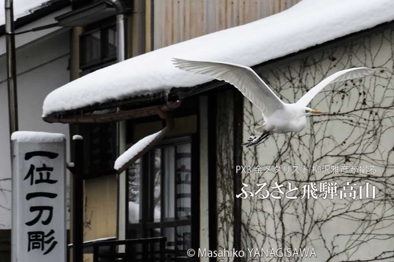
[{"label": "white egret flying with wings spread and yellow bill", "polygon": [[224,80],[236,87],[261,111],[263,125],[256,128],[261,135],[251,136],[245,146],[257,145],[273,133],[299,132],[306,125],[306,116],[321,115],[322,111],[313,110],[307,105],[324,87],[334,82],[361,78],[375,72],[367,67],[355,67],[338,71],[311,88],[296,103],[284,103],[248,66],[215,62],[172,59],[179,69],[201,75],[208,75],[217,80]]}]

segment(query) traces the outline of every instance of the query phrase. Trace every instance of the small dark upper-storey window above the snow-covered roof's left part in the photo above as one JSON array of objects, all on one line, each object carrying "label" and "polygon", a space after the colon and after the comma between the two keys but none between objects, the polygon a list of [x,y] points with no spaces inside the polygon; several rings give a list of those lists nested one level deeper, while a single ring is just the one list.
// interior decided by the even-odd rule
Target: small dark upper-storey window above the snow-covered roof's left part
[{"label": "small dark upper-storey window above the snow-covered roof's left part", "polygon": [[[106,25],[80,36],[80,67],[98,69],[116,61],[116,26]],[[91,72],[92,70],[88,70]]]}]

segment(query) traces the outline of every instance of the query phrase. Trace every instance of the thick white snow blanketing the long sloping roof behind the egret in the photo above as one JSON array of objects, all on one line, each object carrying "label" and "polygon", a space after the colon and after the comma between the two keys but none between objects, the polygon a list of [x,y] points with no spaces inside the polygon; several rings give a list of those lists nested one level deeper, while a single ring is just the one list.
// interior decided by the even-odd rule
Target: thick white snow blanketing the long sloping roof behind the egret
[{"label": "thick white snow blanketing the long sloping roof behind the egret", "polygon": [[392,20],[393,0],[302,0],[261,20],[158,49],[81,77],[46,97],[43,116],[211,80],[174,67],[171,58],[253,66]]}]

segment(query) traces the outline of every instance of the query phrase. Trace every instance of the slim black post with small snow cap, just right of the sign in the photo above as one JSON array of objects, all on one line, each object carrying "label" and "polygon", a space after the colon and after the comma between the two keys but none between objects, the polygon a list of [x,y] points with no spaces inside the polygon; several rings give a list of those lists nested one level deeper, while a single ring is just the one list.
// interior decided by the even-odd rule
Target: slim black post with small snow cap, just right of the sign
[{"label": "slim black post with small snow cap, just right of the sign", "polygon": [[83,138],[73,136],[72,262],[83,262]]}]

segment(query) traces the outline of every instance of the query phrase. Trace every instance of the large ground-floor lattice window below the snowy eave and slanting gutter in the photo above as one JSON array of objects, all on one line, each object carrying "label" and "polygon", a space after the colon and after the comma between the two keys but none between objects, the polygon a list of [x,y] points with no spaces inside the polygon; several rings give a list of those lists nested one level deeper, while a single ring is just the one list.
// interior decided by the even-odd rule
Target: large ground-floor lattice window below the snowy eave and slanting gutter
[{"label": "large ground-floor lattice window below the snowy eave and slanting gutter", "polygon": [[198,226],[192,227],[198,217],[192,145],[190,137],[166,141],[127,170],[127,237],[165,236],[169,257],[187,258],[192,237],[198,238]]}]

